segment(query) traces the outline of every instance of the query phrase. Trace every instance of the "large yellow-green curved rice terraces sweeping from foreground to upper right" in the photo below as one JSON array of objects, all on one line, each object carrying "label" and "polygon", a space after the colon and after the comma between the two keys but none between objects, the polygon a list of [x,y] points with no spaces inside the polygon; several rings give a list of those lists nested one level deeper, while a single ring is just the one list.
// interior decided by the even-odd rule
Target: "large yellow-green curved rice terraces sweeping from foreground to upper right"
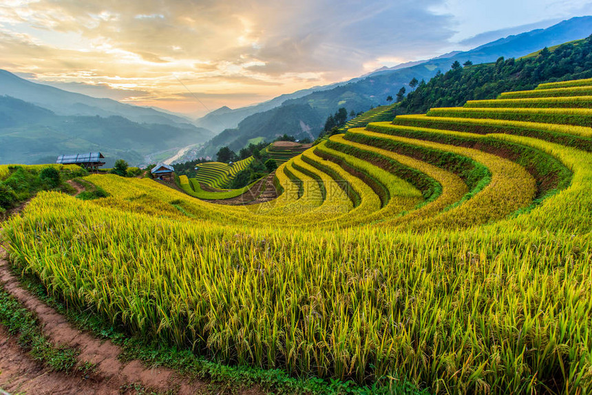
[{"label": "large yellow-green curved rice terraces sweeping from foreground to upper right", "polygon": [[271,202],[90,175],[109,197],[41,193],[4,236],[70,306],[216,361],[586,394],[592,81],[540,88],[332,136],[279,166]]}]

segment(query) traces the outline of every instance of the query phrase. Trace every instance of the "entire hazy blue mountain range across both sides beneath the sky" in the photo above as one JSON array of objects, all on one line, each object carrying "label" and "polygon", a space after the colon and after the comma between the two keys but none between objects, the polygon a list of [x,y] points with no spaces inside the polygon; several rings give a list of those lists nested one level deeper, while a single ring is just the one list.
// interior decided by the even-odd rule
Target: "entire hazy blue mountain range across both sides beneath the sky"
[{"label": "entire hazy blue mountain range across both sides beneath the sky", "polygon": [[223,146],[237,151],[253,140],[283,134],[316,138],[339,107],[366,111],[385,104],[412,78],[429,80],[454,61],[488,63],[519,57],[592,32],[592,17],[562,21],[546,29],[507,36],[474,50],[449,52],[427,61],[383,67],[350,81],[284,94],[258,105],[222,107],[198,120],[169,111],[67,92],[0,70],[0,163],[53,162],[61,153],[101,151],[107,165],[116,158],[147,164],[176,150],[202,146],[193,155],[211,156]]}]

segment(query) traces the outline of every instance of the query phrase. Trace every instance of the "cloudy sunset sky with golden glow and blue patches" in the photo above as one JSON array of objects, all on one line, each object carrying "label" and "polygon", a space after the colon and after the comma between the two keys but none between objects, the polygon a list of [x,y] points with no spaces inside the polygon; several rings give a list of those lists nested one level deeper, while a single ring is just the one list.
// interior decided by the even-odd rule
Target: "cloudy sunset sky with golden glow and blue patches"
[{"label": "cloudy sunset sky with golden glow and blue patches", "polygon": [[589,14],[584,0],[0,0],[0,69],[201,116]]}]

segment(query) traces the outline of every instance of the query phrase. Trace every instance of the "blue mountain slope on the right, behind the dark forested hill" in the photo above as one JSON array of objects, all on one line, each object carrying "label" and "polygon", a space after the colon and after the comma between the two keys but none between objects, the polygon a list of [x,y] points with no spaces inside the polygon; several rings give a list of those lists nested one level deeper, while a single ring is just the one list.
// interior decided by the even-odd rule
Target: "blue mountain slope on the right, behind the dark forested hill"
[{"label": "blue mountain slope on the right, behind the dark forested hill", "polygon": [[[507,36],[504,39],[480,45],[474,50],[450,52],[419,64],[409,63],[408,67],[401,68],[399,65],[392,69],[377,70],[369,75],[354,78],[347,83],[334,84],[328,89],[327,87],[315,89],[315,92],[300,97],[284,99],[279,107],[252,114],[249,116],[248,122],[240,122],[237,129],[224,131],[208,142],[199,155],[215,156],[218,149],[224,145],[240,149],[242,147],[239,146],[242,142],[257,137],[272,140],[283,134],[293,134],[297,138],[304,138],[310,134],[316,136],[321,131],[326,118],[330,114],[334,114],[339,107],[345,107],[348,112],[355,111],[357,113],[367,111],[377,105],[383,105],[386,103],[385,99],[388,96],[394,97],[401,87],[405,87],[407,92],[410,92],[408,83],[412,78],[428,81],[436,75],[438,70],[441,72],[449,70],[454,61],[461,63],[472,61],[472,63],[478,64],[496,61],[500,56],[506,58],[525,56],[542,47],[583,39],[591,33],[592,17],[572,18],[546,29],[536,29]],[[284,95],[284,98],[286,96],[289,95]],[[224,110],[215,118],[219,122],[224,122],[225,116],[240,114],[242,110]],[[282,122],[282,125],[275,129],[266,127],[268,119],[273,119],[274,114],[280,113],[284,114],[289,122]],[[259,134],[257,134],[257,130],[260,131]]]}]

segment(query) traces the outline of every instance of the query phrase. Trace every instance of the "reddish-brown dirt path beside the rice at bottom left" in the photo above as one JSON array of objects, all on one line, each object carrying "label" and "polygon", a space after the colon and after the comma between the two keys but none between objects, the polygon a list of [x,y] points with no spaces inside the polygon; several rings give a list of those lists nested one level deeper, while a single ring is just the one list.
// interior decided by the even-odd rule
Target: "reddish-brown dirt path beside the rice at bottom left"
[{"label": "reddish-brown dirt path beside the rice at bottom left", "polygon": [[[52,372],[33,361],[0,325],[0,394],[1,390],[13,394],[136,394],[143,389],[179,395],[211,393],[206,381],[189,380],[166,367],[148,367],[138,360],[120,361],[121,350],[117,345],[78,330],[54,308],[23,288],[12,274],[6,250],[1,245],[0,287],[36,314],[43,334],[52,344],[80,350],[78,362],[96,367],[90,377],[81,372]],[[140,391],[134,385],[139,385]],[[238,394],[264,392],[255,386]]]}]

